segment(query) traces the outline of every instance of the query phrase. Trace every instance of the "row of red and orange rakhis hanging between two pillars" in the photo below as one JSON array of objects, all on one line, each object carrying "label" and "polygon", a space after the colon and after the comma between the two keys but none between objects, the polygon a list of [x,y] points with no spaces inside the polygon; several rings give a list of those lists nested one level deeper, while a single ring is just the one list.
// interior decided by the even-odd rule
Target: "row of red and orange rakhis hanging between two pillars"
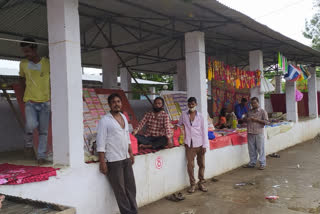
[{"label": "row of red and orange rakhis hanging between two pillars", "polygon": [[209,81],[224,81],[236,89],[254,88],[260,86],[261,71],[245,71],[230,67],[223,62],[208,57]]}]

